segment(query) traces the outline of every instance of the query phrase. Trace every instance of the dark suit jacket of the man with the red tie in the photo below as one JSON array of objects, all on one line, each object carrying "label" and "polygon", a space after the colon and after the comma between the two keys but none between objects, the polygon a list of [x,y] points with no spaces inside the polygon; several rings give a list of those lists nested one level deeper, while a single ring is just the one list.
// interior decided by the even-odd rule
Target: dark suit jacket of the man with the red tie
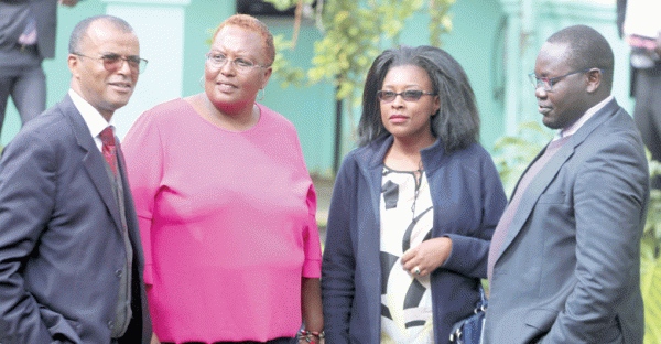
[{"label": "dark suit jacket of the man with the red tie", "polygon": [[[144,259],[121,151],[119,158],[133,247],[133,319],[123,343],[149,343]],[[4,148],[1,343],[110,342],[126,249],[106,165],[68,95]]]}]

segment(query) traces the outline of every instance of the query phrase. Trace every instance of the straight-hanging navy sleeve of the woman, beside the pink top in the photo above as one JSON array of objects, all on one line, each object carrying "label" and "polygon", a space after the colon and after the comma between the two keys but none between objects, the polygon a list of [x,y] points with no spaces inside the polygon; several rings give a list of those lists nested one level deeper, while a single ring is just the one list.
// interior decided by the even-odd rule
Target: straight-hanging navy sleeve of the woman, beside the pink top
[{"label": "straight-hanging navy sleeve of the woman, beside the pink top", "polygon": [[322,301],[327,343],[349,343],[349,319],[354,302],[356,269],[351,243],[351,221],[355,221],[354,163],[345,160],[335,180],[328,213],[326,246],[322,262]]}]

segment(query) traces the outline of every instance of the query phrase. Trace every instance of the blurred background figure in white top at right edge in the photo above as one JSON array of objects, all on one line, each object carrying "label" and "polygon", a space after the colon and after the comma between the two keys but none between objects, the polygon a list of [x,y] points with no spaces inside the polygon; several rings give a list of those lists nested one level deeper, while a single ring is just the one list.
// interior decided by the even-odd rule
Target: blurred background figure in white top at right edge
[{"label": "blurred background figure in white top at right edge", "polygon": [[[660,1],[617,0],[619,34],[631,46],[633,119],[652,159],[661,161],[661,12]],[[661,176],[652,180],[661,187]]]}]

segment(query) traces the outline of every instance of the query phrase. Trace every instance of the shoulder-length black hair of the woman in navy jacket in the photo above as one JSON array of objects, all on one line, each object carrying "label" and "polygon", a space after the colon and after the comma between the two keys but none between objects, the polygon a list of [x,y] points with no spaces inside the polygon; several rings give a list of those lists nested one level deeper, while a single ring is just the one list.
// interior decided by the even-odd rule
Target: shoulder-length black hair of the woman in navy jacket
[{"label": "shoulder-length black hair of the woman in navy jacket", "polygon": [[424,69],[432,80],[432,92],[441,98],[441,108],[432,116],[432,135],[441,139],[445,151],[452,153],[477,142],[479,112],[464,68],[442,49],[421,45],[389,49],[372,63],[362,92],[359,146],[390,136],[381,122],[377,92],[383,86],[390,68],[405,65]]}]

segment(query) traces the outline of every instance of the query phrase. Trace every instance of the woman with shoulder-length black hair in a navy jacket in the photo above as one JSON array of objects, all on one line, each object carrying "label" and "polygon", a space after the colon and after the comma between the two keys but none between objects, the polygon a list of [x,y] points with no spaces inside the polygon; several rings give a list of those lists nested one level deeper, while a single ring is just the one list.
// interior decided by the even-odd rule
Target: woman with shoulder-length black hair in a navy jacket
[{"label": "woman with shoulder-length black hair in a navy jacket", "polygon": [[478,132],[475,96],[446,52],[402,46],[375,60],[360,147],[330,203],[327,343],[447,343],[472,313],[507,203]]}]

